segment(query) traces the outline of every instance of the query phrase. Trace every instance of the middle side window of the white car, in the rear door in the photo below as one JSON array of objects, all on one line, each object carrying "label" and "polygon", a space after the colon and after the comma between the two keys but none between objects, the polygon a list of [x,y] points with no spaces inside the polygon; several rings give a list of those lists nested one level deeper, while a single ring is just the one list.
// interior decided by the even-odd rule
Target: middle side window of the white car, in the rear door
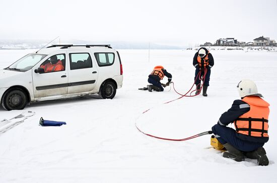
[{"label": "middle side window of the white car, in the rear door", "polygon": [[89,53],[70,53],[70,70],[92,68]]}]

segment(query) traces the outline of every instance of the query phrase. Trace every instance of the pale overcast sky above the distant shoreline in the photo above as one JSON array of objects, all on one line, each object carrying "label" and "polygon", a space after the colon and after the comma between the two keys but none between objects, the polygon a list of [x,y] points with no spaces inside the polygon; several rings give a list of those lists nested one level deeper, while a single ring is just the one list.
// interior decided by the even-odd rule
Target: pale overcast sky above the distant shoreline
[{"label": "pale overcast sky above the distant shoreline", "polygon": [[277,0],[0,0],[0,39],[194,45],[277,39]]}]

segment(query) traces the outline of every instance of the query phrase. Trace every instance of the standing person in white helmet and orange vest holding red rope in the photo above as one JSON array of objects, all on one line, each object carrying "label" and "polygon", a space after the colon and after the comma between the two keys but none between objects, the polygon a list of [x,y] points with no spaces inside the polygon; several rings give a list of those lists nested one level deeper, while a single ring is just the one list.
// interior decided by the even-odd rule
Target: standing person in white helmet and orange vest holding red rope
[{"label": "standing person in white helmet and orange vest holding red rope", "polygon": [[[196,85],[196,95],[200,92],[200,83],[199,77],[196,78],[198,73],[201,71],[201,77],[204,75],[204,68],[207,69],[205,80],[203,81],[203,96],[207,96],[207,87],[209,86],[211,68],[214,66],[213,55],[204,47],[200,47],[198,51],[194,54],[193,57],[193,66],[195,67],[195,76],[194,81]],[[196,79],[196,80],[195,80]]]}]

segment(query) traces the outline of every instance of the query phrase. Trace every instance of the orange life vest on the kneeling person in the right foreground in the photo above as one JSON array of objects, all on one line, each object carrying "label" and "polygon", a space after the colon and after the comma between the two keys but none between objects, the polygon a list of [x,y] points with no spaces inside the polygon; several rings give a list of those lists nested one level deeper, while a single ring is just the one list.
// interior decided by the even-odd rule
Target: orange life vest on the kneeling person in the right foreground
[{"label": "orange life vest on the kneeling person in the right foreground", "polygon": [[250,105],[250,110],[234,121],[237,133],[253,137],[268,137],[269,103],[258,96],[246,96],[242,101]]}]

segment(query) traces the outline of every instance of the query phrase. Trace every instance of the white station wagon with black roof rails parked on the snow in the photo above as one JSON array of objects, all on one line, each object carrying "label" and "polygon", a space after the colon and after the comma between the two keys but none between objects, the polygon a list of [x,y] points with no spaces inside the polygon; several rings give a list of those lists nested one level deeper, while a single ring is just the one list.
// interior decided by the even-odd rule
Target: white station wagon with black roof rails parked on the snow
[{"label": "white station wagon with black roof rails parked on the snow", "polygon": [[6,110],[27,103],[98,93],[112,99],[122,87],[118,51],[110,45],[52,45],[0,70],[0,99]]}]

